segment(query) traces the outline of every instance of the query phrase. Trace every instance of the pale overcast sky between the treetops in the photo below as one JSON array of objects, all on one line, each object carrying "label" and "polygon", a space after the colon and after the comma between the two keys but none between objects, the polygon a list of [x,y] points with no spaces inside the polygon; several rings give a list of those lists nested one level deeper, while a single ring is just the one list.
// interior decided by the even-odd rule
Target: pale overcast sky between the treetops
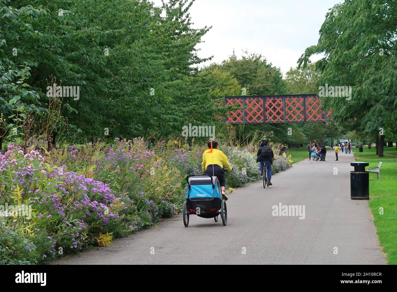
[{"label": "pale overcast sky between the treetops", "polygon": [[[153,0],[161,6],[161,0]],[[212,26],[198,45],[202,58],[222,62],[235,49],[262,54],[283,73],[297,66],[304,50],[317,44],[328,9],[340,0],[196,0],[190,9],[193,27]],[[321,56],[313,56],[316,61]]]}]

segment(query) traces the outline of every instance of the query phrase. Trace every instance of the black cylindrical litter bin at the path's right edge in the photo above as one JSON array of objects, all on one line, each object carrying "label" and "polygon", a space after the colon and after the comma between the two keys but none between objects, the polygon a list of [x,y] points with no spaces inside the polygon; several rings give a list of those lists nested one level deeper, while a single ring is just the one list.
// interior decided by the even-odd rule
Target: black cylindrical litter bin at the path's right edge
[{"label": "black cylindrical litter bin at the path's right edge", "polygon": [[351,162],[354,171],[350,172],[350,198],[352,200],[370,199],[370,173],[365,171],[368,162]]}]

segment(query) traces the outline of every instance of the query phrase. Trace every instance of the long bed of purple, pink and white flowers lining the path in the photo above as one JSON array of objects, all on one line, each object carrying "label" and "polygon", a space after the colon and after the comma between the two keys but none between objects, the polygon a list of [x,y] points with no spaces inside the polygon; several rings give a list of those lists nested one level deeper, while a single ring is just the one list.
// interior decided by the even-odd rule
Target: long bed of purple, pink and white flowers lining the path
[{"label": "long bed of purple, pink and white flowers lining the path", "polygon": [[[220,149],[233,167],[226,173],[228,187],[258,179],[250,151]],[[141,138],[45,154],[10,145],[0,154],[0,205],[19,206],[19,213],[21,206],[31,206],[31,213],[0,209],[0,264],[45,263],[88,246],[107,246],[113,237],[179,213],[185,177],[201,173],[204,150],[175,147],[173,141],[152,145]],[[290,167],[288,160],[279,156],[274,173]]]}]

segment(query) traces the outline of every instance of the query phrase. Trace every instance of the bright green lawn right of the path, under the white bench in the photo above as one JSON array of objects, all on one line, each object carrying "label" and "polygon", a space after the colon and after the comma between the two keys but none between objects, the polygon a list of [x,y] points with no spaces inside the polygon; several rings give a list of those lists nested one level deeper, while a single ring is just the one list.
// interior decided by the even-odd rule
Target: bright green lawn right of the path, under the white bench
[{"label": "bright green lawn right of the path, under the white bench", "polygon": [[[397,265],[397,151],[394,147],[384,149],[384,157],[376,155],[375,147],[370,150],[363,147],[364,152],[353,148],[356,161],[369,162],[369,166],[380,169],[380,180],[376,173],[370,173],[369,206],[374,215],[374,224],[383,251],[387,253],[389,264]],[[369,167],[368,166],[368,167]],[[383,208],[383,215],[380,210]]]}]

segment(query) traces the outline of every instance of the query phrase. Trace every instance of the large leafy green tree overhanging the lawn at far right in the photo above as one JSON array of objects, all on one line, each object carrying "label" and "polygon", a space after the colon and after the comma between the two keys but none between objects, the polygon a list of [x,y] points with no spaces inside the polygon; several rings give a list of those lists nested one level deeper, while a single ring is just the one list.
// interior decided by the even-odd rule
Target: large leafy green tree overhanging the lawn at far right
[{"label": "large leafy green tree overhanging the lawn at far right", "polygon": [[[322,98],[324,108],[347,130],[373,134],[394,121],[397,131],[397,3],[346,0],[326,14],[318,44],[310,46],[299,66],[323,53],[317,62],[319,85],[351,86],[350,97]],[[382,137],[380,143],[384,140]],[[383,145],[378,144],[379,156]]]}]

